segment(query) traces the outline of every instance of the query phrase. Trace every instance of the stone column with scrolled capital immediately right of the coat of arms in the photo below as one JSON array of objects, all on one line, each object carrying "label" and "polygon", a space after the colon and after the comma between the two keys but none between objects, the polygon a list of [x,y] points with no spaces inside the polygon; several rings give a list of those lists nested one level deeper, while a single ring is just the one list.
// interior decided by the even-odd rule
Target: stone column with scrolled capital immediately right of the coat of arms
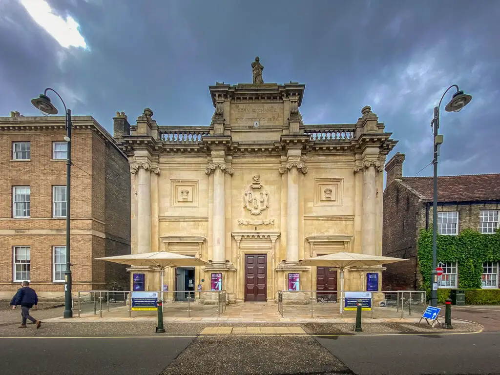
[{"label": "stone column with scrolled capital immediately right of the coat of arms", "polygon": [[288,195],[286,201],[286,262],[298,261],[298,171],[307,172],[302,162],[289,162],[279,168],[280,173],[288,172]]}]

